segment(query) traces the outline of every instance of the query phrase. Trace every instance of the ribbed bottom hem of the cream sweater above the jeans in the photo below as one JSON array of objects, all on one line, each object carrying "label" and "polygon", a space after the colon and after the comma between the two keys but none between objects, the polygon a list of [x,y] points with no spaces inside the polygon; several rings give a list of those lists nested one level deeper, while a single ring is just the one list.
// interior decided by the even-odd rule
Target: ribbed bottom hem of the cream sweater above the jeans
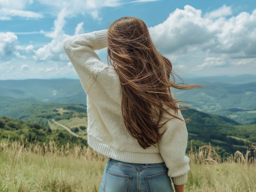
[{"label": "ribbed bottom hem of the cream sweater above the jeans", "polygon": [[160,153],[140,153],[140,152],[128,152],[117,150],[107,144],[101,143],[96,138],[88,135],[88,145],[109,158],[113,158],[117,161],[133,164],[157,164],[163,163],[163,158]]}]

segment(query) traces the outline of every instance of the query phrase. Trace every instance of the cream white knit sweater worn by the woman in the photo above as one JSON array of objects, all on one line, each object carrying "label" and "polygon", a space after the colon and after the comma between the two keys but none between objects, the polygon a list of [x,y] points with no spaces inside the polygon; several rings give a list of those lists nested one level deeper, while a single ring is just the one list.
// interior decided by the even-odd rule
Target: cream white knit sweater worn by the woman
[{"label": "cream white knit sweater worn by the woman", "polygon": [[[108,29],[68,37],[63,48],[87,93],[88,145],[102,155],[134,164],[165,162],[168,175],[176,185],[185,184],[189,158],[185,155],[188,132],[179,119],[168,121],[161,129],[160,141],[143,149],[125,128],[122,117],[122,89],[119,76],[99,59],[94,50],[108,46]],[[174,114],[173,110],[169,110]],[[178,116],[183,119],[182,114]],[[162,123],[161,121],[160,123]]]}]

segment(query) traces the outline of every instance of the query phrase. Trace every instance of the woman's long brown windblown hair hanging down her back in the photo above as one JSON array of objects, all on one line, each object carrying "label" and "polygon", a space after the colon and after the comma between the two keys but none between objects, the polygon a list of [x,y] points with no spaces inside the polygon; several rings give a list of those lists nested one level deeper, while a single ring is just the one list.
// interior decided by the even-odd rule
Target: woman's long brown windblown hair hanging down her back
[{"label": "woman's long brown windblown hair hanging down her back", "polygon": [[[160,139],[158,128],[167,123],[159,124],[160,119],[189,121],[175,116],[178,110],[186,108],[176,105],[182,101],[172,97],[170,87],[184,90],[204,86],[175,84],[173,74],[178,75],[172,71],[171,61],[157,51],[146,24],[136,17],[116,20],[110,25],[107,38],[108,64],[118,74],[122,87],[122,116],[126,129],[146,149]],[[163,105],[175,110],[175,115]],[[163,117],[163,113],[173,118]],[[153,121],[154,115],[158,116],[157,122]]]}]

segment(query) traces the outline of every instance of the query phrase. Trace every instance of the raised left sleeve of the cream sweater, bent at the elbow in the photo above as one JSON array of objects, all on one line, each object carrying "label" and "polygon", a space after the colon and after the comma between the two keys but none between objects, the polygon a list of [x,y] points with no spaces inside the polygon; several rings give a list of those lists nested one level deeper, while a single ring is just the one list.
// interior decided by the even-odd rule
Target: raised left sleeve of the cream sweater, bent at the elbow
[{"label": "raised left sleeve of the cream sweater, bent at the elbow", "polygon": [[97,76],[108,66],[94,51],[108,46],[107,33],[108,29],[104,29],[68,37],[63,41],[64,51],[75,68],[86,93],[90,91],[89,88],[92,87]]}]

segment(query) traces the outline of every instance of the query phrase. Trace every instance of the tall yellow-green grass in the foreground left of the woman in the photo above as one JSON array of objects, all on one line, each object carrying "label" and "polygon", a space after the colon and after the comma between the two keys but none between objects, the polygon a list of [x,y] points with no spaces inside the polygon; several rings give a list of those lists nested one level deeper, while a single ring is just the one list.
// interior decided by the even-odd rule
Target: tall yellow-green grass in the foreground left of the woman
[{"label": "tall yellow-green grass in the foreground left of the woman", "polygon": [[54,141],[41,146],[3,139],[0,142],[0,191],[96,192],[107,160],[90,147],[70,148],[67,143],[58,149]]}]

